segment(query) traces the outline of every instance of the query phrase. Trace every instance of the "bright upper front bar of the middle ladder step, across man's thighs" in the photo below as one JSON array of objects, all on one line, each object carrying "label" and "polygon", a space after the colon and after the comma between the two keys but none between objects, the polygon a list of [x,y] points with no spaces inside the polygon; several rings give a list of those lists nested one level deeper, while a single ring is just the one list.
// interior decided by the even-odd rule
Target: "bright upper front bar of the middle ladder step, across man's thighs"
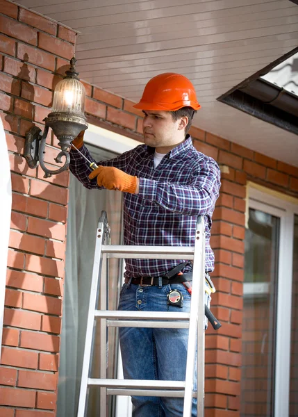
[{"label": "bright upper front bar of the middle ladder step, across man's thighs", "polygon": [[[172,313],[169,311],[115,311],[95,310],[95,318],[120,320],[190,320],[190,313]],[[142,323],[144,324],[144,323]]]}]

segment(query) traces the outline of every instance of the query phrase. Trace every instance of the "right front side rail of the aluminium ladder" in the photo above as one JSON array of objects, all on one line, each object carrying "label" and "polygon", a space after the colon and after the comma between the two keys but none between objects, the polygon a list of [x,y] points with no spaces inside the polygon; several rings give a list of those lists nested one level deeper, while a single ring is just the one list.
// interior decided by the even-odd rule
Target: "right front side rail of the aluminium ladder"
[{"label": "right front side rail of the aluminium ladder", "polygon": [[[201,281],[204,280],[204,275],[201,275],[202,264],[204,263],[204,217],[198,216],[196,232],[194,238],[194,263],[192,268],[192,297],[190,303],[190,324],[188,332],[188,355],[186,361],[186,373],[185,373],[185,395],[184,395],[184,407],[183,417],[190,417],[192,414],[192,391],[193,391],[193,380],[194,380],[194,364],[196,357],[197,341],[201,340],[199,334],[197,334],[197,323],[200,308],[199,296],[201,293]],[[204,268],[204,265],[203,265]],[[200,332],[201,335],[201,332]],[[199,343],[198,343],[199,344]],[[199,358],[197,358],[199,363]],[[201,366],[200,366],[201,368]],[[200,369],[201,372],[201,369]],[[199,380],[199,375],[198,375]],[[197,387],[197,402],[202,402],[201,391],[199,386]],[[199,406],[201,408],[201,404]],[[198,414],[201,417],[201,414]]]}]

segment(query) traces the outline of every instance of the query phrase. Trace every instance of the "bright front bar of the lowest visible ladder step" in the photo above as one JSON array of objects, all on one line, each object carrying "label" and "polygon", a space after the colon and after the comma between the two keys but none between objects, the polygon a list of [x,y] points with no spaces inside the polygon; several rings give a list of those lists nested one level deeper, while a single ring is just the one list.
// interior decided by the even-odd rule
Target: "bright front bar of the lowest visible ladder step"
[{"label": "bright front bar of the lowest visible ladder step", "polygon": [[155,389],[183,390],[185,381],[160,381],[155,379],[99,379],[88,378],[88,386],[101,386],[111,389]]}]

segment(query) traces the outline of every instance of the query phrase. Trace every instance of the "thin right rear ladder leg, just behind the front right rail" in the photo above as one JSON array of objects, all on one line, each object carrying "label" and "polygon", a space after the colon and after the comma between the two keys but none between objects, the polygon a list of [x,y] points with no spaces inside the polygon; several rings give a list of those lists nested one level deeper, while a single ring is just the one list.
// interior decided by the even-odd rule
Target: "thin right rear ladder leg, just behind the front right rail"
[{"label": "thin right rear ladder leg, just behind the front right rail", "polygon": [[206,231],[203,231],[202,261],[199,276],[199,318],[197,322],[197,416],[204,417],[205,398],[205,264],[206,264]]}]

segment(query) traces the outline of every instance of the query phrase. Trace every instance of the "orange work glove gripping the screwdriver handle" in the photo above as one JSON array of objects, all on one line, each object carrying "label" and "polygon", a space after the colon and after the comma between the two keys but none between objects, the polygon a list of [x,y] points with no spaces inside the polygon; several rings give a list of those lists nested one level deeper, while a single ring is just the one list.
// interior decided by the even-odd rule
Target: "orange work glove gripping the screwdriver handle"
[{"label": "orange work glove gripping the screwdriver handle", "polygon": [[89,175],[90,179],[97,177],[99,187],[104,186],[108,190],[120,190],[134,194],[137,188],[137,177],[126,174],[115,167],[99,166]]}]

